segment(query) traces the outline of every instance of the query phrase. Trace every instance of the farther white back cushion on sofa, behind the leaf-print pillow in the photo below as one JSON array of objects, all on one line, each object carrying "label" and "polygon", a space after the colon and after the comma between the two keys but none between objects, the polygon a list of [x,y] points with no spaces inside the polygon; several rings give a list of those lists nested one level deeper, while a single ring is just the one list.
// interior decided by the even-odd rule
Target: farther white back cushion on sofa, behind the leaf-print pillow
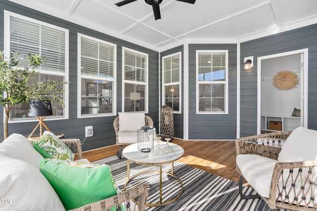
[{"label": "farther white back cushion on sofa, behind the leaf-print pillow", "polygon": [[0,155],[25,161],[37,169],[43,156],[36,151],[31,142],[21,134],[13,133],[0,143]]}]

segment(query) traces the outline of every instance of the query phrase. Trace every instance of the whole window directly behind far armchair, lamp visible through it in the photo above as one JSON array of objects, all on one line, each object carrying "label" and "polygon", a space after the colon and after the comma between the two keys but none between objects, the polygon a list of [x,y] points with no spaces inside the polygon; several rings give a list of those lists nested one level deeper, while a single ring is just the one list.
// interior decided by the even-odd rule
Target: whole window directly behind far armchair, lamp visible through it
[{"label": "whole window directly behind far armchair, lamp visible through it", "polygon": [[123,112],[148,111],[148,54],[122,48]]}]

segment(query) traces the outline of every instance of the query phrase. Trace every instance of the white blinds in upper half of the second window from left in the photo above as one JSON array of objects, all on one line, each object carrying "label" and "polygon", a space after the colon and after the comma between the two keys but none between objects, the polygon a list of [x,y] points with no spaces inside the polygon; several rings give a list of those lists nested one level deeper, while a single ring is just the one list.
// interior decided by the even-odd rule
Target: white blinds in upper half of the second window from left
[{"label": "white blinds in upper half of the second window from left", "polygon": [[114,47],[81,38],[81,74],[113,79]]}]

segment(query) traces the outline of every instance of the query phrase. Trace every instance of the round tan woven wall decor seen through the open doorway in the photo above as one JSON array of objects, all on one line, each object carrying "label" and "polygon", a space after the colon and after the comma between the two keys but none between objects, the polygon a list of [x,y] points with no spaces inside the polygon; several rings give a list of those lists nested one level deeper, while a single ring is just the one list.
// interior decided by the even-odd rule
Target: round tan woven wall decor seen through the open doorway
[{"label": "round tan woven wall decor seen through the open doorway", "polygon": [[295,88],[298,78],[292,71],[281,71],[273,77],[273,85],[279,90],[289,90]]}]

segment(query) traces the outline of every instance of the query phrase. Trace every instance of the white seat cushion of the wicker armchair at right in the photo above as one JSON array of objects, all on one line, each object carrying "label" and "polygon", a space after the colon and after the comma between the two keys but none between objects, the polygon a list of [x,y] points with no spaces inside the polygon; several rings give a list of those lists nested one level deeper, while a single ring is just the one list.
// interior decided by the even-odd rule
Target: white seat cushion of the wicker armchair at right
[{"label": "white seat cushion of the wicker armchair at right", "polygon": [[237,166],[243,177],[265,198],[268,198],[269,195],[269,186],[276,162],[276,160],[260,155],[238,155],[236,158]]}]

